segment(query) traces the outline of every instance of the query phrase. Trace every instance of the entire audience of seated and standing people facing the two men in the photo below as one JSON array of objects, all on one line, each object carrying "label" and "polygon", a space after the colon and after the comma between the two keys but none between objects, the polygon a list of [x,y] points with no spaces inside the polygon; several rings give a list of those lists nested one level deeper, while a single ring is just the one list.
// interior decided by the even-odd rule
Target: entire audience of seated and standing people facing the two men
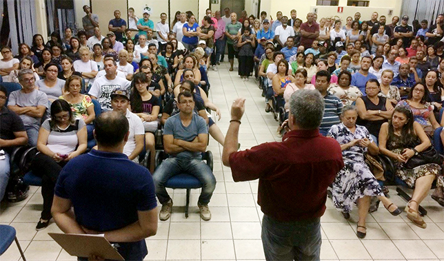
[{"label": "entire audience of seated and standing people facing the two men", "polygon": [[[77,36],[66,28],[63,40],[53,32],[48,43],[35,34],[31,48],[21,43],[15,58],[11,48],[1,48],[2,81],[19,83],[21,90],[8,93],[0,88],[0,147],[6,156],[8,148],[27,144],[40,152],[31,163],[33,173],[42,178],[43,211],[37,230],[52,218],[54,186],[63,166],[93,148],[97,111],[119,112],[128,119],[123,153],[130,160],[139,163],[143,152],[150,155],[147,165],[162,204],[161,220],[170,218],[173,204],[165,182],[183,171],[203,183],[198,206],[201,218],[210,220],[208,203],[216,180],[201,153],[208,134],[221,145],[225,140],[208,113],[221,118],[208,98],[208,74],[223,61],[225,44],[230,71],[236,58],[244,81],[253,74],[260,80],[267,112],[282,108],[285,120],[290,96],[298,90],[316,89],[324,97],[319,129],[340,143],[345,162],[332,184],[332,200],[345,218],[357,204],[360,238],[365,237],[372,198],[381,200],[392,215],[401,213],[365,163],[367,154],[384,154],[396,162],[396,176],[415,188],[407,218],[426,227],[418,205],[436,180],[432,198],[444,206],[441,165],[407,168],[405,163],[430,147],[434,131],[444,126],[439,118],[444,99],[443,14],[436,19],[441,29],[437,33],[432,30],[436,25],[430,30],[413,28],[407,16],[399,25],[398,17],[386,25],[386,17],[378,20],[376,12],[370,21],[360,21],[356,13],[344,26],[329,17],[318,23],[313,13],[303,22],[296,10],[290,19],[277,12],[276,21],[266,12],[256,18],[244,11],[239,20],[226,9],[224,17],[219,11],[212,17],[210,9],[206,14],[199,25],[192,12],[176,12],[170,30],[166,14],[154,28],[145,8],[135,28],[114,27],[110,21],[106,36],[99,27]],[[120,19],[119,10],[114,16]],[[283,129],[279,127],[279,135]],[[162,144],[156,144],[157,135]],[[444,140],[444,132],[441,137]],[[157,145],[170,158],[154,169]],[[5,162],[0,162],[0,198],[10,178]]]}]

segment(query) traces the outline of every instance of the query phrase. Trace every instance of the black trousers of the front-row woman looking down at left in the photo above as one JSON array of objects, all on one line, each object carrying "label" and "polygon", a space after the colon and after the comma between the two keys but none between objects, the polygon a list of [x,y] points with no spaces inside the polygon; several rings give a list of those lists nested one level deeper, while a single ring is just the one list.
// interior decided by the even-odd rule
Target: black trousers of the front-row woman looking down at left
[{"label": "black trousers of the front-row woman looking down at left", "polygon": [[54,198],[54,187],[59,178],[63,166],[67,162],[56,163],[50,156],[43,153],[37,154],[31,163],[32,173],[41,177],[41,196],[43,197],[43,211],[41,219],[50,220],[52,199]]}]

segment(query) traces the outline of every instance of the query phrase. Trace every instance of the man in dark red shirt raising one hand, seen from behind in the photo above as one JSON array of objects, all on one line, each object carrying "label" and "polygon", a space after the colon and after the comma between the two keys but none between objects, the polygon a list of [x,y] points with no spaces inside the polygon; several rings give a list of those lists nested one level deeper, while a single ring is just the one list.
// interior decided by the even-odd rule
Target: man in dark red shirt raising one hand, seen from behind
[{"label": "man in dark red shirt raising one hand, seen from behind", "polygon": [[237,152],[244,103],[233,102],[222,160],[235,182],[259,178],[265,258],[319,260],[327,187],[344,166],[339,143],[319,134],[323,98],[316,90],[294,92],[283,141]]}]

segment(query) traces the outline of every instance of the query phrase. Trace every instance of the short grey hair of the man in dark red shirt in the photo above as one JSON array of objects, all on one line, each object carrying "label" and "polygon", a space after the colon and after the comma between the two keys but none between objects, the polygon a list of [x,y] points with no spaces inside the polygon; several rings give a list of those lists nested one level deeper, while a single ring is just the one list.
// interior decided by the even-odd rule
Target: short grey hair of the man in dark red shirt
[{"label": "short grey hair of the man in dark red shirt", "polygon": [[301,129],[316,129],[324,115],[324,99],[317,90],[298,90],[290,97],[290,114]]}]

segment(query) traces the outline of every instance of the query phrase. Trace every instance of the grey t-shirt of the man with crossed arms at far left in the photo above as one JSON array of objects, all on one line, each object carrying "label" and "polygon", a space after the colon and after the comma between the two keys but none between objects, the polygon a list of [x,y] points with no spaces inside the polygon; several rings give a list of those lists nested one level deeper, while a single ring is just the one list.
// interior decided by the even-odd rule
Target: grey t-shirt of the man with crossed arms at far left
[{"label": "grey t-shirt of the man with crossed arms at far left", "polygon": [[[20,107],[37,107],[39,105],[45,106],[48,109],[48,96],[44,92],[37,89],[26,94],[21,90],[11,92],[9,96],[8,106],[18,105]],[[33,118],[26,114],[19,115],[24,125],[40,126],[40,118]]]}]

